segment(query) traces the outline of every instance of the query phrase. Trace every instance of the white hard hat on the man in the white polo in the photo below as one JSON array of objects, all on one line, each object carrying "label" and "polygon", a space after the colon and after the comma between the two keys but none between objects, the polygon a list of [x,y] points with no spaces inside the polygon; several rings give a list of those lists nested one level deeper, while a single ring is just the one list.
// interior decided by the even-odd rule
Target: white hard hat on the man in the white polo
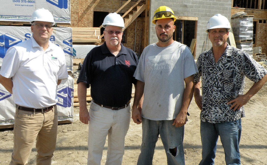
[{"label": "white hard hat on the man in the white polo", "polygon": [[33,12],[30,24],[32,24],[33,21],[45,21],[45,22],[51,22],[52,25],[55,24],[53,15],[50,13],[49,10],[46,10],[44,8],[37,9]]}]

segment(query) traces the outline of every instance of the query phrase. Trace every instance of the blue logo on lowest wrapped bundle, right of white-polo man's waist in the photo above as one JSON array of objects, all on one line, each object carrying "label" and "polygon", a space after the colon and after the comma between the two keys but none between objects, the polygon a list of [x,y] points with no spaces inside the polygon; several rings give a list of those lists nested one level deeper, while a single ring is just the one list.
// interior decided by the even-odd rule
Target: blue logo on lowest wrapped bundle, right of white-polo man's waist
[{"label": "blue logo on lowest wrapped bundle, right of white-polo man's waist", "polygon": [[62,86],[57,89],[57,97],[59,101],[57,105],[60,105],[64,108],[72,106],[72,97],[73,97],[74,87],[73,86]]}]

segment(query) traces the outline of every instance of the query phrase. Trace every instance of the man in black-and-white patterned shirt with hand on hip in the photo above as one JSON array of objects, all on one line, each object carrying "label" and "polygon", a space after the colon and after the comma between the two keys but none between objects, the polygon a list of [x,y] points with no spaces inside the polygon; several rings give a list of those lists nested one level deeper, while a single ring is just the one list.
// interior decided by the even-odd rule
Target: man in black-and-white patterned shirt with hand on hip
[{"label": "man in black-and-white patterned shirt with hand on hip", "polygon": [[[214,164],[220,136],[227,165],[241,164],[239,142],[243,105],[267,81],[267,71],[245,51],[231,47],[227,42],[230,23],[216,14],[207,22],[212,48],[201,53],[197,60],[198,73],[194,75],[194,97],[200,112],[202,160],[199,164]],[[244,94],[245,76],[254,81]],[[200,78],[201,82],[200,83]],[[202,96],[200,86],[202,85]]]}]

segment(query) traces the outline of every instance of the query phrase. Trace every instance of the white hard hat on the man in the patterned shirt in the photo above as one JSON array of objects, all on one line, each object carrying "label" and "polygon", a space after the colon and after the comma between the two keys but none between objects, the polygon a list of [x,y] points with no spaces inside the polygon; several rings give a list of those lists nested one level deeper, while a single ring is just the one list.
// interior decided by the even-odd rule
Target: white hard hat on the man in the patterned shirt
[{"label": "white hard hat on the man in the patterned shirt", "polygon": [[231,26],[228,19],[225,16],[221,14],[215,14],[207,22],[206,32],[209,32],[209,29],[216,29],[216,28],[226,28],[230,30]]}]

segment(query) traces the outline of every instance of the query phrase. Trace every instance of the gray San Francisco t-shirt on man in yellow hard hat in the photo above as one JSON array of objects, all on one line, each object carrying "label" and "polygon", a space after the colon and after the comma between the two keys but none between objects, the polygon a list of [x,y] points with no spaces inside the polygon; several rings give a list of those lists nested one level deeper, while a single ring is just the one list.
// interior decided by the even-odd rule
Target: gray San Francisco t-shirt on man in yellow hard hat
[{"label": "gray San Francisco t-shirt on man in yellow hard hat", "polygon": [[193,55],[184,44],[167,47],[147,46],[135,71],[135,78],[145,83],[142,117],[172,120],[180,112],[184,78],[198,72]]}]

